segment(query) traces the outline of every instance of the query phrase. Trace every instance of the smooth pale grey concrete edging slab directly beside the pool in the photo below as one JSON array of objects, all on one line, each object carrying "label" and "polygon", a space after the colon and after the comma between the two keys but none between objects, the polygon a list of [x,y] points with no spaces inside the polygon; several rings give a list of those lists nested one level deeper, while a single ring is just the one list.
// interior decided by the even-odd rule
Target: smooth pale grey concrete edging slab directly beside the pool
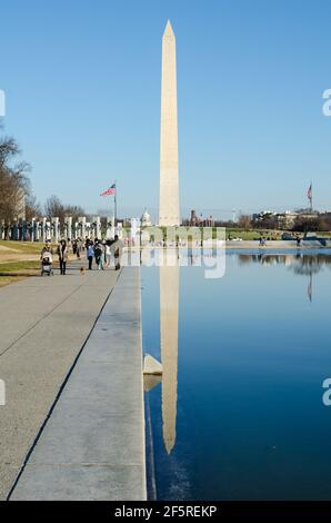
[{"label": "smooth pale grey concrete edging slab directly beside the pool", "polygon": [[124,268],[11,499],[146,495],[140,279]]}]

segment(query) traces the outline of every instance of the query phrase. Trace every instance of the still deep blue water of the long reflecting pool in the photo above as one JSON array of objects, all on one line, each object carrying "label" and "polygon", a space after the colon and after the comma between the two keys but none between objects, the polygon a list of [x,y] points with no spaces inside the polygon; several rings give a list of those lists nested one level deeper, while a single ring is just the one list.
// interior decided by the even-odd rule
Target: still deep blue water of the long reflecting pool
[{"label": "still deep blue water of the long reflecting pool", "polygon": [[[143,348],[161,359],[159,270],[141,277]],[[229,253],[203,276],[179,269],[168,391],[147,393],[158,499],[331,500],[331,254]]]}]

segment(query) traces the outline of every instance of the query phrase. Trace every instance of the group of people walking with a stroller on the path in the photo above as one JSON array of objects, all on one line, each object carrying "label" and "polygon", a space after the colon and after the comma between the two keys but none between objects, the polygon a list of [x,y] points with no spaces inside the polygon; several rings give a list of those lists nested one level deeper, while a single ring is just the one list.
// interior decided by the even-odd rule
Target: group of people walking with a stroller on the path
[{"label": "group of people walking with a stroller on the path", "polygon": [[[86,238],[86,241],[80,239],[66,240],[61,239],[57,247],[57,255],[59,258],[60,274],[66,275],[67,263],[69,259],[69,247],[71,244],[71,249],[77,259],[81,259],[81,250],[86,250],[87,259],[89,264],[89,270],[93,268],[93,260],[96,262],[97,268],[99,270],[104,270],[104,268],[111,267],[111,260],[114,259],[114,269],[119,270],[121,268],[120,258],[122,255],[122,241],[116,235],[114,239],[109,240],[99,240],[98,238],[93,240]],[[48,256],[50,263],[53,260],[53,249],[50,244],[46,244],[41,250],[40,259],[41,262],[44,257]]]}]

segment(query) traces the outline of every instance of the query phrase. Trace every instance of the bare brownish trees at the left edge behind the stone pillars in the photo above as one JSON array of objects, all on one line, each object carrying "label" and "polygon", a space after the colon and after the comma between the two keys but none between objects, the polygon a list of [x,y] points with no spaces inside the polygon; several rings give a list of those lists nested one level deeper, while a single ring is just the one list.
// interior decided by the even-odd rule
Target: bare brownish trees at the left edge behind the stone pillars
[{"label": "bare brownish trees at the left edge behind the stone pillars", "polygon": [[[3,125],[0,120],[0,131]],[[24,213],[26,219],[33,217],[59,217],[62,221],[66,216],[72,216],[73,221],[84,216],[80,206],[64,205],[57,196],[50,196],[42,207],[32,191],[29,174],[30,165],[20,160],[20,148],[13,138],[6,135],[0,137],[0,221],[12,223]]]}]

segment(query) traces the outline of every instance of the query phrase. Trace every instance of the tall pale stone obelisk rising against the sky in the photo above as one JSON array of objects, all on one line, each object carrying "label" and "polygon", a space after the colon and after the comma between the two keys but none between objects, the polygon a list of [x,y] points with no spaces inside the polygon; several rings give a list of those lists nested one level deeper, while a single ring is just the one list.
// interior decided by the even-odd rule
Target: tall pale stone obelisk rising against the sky
[{"label": "tall pale stone obelisk rising against the sky", "polygon": [[168,21],[162,39],[160,226],[180,225],[175,38]]}]

